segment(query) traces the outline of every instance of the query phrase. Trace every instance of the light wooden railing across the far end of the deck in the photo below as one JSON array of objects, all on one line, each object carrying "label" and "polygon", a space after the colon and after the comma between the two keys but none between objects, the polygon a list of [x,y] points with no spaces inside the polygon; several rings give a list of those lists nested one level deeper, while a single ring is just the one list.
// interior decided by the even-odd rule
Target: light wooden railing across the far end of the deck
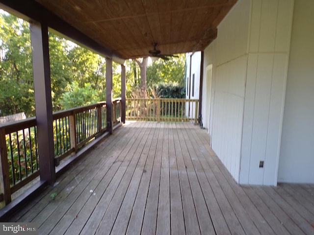
[{"label": "light wooden railing across the far end of the deck", "polygon": [[126,119],[143,121],[198,121],[198,99],[127,98]]}]

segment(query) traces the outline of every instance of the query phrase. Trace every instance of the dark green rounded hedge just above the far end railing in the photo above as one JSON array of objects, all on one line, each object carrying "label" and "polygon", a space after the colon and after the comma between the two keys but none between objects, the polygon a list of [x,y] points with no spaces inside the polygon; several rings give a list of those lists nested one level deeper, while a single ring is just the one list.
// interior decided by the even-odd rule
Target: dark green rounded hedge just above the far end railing
[{"label": "dark green rounded hedge just above the far end railing", "polygon": [[162,98],[185,98],[185,86],[176,82],[159,83],[153,87],[153,90]]}]

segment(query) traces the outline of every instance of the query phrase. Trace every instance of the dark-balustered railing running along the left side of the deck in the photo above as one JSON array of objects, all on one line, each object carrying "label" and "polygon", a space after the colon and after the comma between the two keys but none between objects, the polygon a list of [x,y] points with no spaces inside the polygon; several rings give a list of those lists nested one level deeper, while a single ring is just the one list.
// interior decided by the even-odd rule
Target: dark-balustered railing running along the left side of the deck
[{"label": "dark-balustered railing running along the left side of the deck", "polygon": [[[121,98],[113,100],[114,124],[121,121]],[[106,131],[106,103],[53,113],[55,166]],[[0,202],[39,176],[36,118],[0,125]]]}]

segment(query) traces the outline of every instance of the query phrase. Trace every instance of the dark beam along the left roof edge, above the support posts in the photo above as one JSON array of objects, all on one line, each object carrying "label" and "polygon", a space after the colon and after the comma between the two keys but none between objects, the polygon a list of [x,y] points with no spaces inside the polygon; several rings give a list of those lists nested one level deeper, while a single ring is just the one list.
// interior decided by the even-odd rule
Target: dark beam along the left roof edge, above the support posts
[{"label": "dark beam along the left roof edge, above the support posts", "polygon": [[118,63],[124,61],[120,55],[113,53],[108,47],[102,46],[89,38],[35,0],[0,0],[0,7],[26,21],[45,23],[53,29],[54,33],[61,34],[63,37],[88,47],[105,57],[114,58],[114,61]]}]

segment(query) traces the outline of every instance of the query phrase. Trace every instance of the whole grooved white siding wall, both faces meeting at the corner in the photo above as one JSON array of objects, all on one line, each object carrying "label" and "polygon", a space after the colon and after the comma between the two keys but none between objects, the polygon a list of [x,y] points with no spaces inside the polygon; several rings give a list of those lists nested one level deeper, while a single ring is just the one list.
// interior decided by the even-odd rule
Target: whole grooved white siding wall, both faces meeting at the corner
[{"label": "whole grooved white siding wall, both faces meeting at the corner", "polygon": [[241,184],[277,184],[292,10],[293,0],[238,0],[205,50],[211,147]]}]

